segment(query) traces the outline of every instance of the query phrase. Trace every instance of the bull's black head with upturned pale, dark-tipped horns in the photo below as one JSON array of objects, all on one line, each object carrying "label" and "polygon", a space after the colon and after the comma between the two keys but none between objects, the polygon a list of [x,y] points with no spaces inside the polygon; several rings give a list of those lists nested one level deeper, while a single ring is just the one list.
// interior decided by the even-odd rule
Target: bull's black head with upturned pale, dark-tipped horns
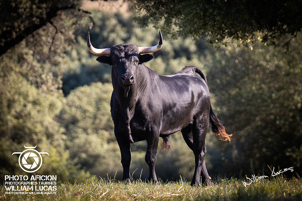
[{"label": "bull's black head with upturned pale, dark-tipped horns", "polygon": [[[87,35],[87,46],[91,53],[102,55],[97,61],[112,66],[112,84],[130,87],[136,83],[139,65],[153,59],[153,55],[144,54],[156,52],[162,47],[162,34],[159,31],[159,43],[151,47],[138,47],[132,44],[114,45],[111,48],[96,49],[91,45],[89,32]],[[143,54],[143,55],[141,55]],[[107,55],[107,56],[106,56]]]}]

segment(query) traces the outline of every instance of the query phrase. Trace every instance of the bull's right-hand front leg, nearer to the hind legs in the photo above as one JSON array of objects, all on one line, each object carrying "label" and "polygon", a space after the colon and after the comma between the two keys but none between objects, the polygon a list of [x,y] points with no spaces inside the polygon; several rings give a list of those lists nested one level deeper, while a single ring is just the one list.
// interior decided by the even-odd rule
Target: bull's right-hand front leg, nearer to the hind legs
[{"label": "bull's right-hand front leg, nearer to the hind legs", "polygon": [[146,163],[149,166],[149,181],[153,181],[155,184],[157,183],[157,178],[155,174],[155,163],[156,163],[156,155],[157,155],[157,145],[159,140],[159,133],[154,132],[151,129],[151,132],[148,135],[147,139],[147,152],[146,152]]}]

